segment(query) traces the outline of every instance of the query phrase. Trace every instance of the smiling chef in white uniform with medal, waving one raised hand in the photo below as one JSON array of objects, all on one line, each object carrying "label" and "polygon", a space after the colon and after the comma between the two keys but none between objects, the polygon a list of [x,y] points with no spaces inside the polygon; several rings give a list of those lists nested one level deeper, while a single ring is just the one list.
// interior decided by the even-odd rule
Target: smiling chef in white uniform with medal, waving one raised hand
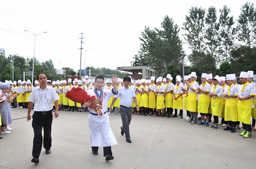
[{"label": "smiling chef in white uniform with medal, waving one raised hand", "polygon": [[105,89],[104,77],[97,76],[95,79],[95,88],[88,90],[87,93],[99,97],[100,104],[102,105],[102,116],[95,111],[95,109],[89,108],[92,105],[91,101],[84,102],[83,108],[88,107],[90,114],[88,116],[89,128],[91,133],[91,149],[92,153],[97,155],[99,146],[103,147],[104,156],[106,161],[114,159],[112,156],[111,146],[117,144],[117,140],[110,128],[109,116],[107,114],[107,102],[110,97],[117,94],[117,75],[112,77],[113,89],[112,91]]}]

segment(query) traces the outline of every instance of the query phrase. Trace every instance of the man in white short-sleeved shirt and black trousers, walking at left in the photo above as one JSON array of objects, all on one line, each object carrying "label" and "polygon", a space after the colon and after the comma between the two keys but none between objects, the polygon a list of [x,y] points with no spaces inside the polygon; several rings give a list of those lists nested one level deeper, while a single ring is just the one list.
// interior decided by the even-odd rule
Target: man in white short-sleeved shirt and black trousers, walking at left
[{"label": "man in white short-sleeved shirt and black trousers, walking at left", "polygon": [[[52,147],[52,122],[53,122],[53,101],[57,108],[59,107],[59,96],[54,91],[53,87],[46,85],[47,77],[44,73],[39,73],[37,75],[37,80],[40,83],[40,86],[35,87],[32,90],[30,96],[28,97],[28,110],[27,110],[27,121],[31,119],[30,112],[35,103],[34,110],[35,112],[32,115],[32,127],[34,129],[34,140],[33,140],[33,150],[31,160],[32,163],[39,163],[39,155],[43,148],[46,149],[45,153],[51,153]],[[59,110],[56,109],[54,117],[59,117]],[[42,128],[44,135],[42,136]]]}]

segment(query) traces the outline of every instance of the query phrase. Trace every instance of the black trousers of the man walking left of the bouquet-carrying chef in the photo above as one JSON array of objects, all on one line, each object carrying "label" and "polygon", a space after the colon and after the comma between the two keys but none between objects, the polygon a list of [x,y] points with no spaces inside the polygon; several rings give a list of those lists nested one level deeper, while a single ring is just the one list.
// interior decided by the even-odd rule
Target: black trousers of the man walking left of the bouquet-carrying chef
[{"label": "black trousers of the man walking left of the bouquet-carrying chef", "polygon": [[38,158],[42,150],[42,144],[44,149],[50,149],[52,147],[51,131],[53,114],[52,111],[48,111],[47,113],[35,111],[32,118],[32,127],[34,129],[32,156],[33,158]]}]

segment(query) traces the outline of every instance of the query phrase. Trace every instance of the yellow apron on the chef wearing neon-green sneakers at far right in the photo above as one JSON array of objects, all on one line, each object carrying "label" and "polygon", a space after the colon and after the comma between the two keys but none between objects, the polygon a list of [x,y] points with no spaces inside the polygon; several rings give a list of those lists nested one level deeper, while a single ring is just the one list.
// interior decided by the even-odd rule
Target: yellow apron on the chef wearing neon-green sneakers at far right
[{"label": "yellow apron on the chef wearing neon-green sneakers at far right", "polygon": [[238,121],[251,124],[251,100],[242,100],[238,101],[237,113],[238,113]]}]

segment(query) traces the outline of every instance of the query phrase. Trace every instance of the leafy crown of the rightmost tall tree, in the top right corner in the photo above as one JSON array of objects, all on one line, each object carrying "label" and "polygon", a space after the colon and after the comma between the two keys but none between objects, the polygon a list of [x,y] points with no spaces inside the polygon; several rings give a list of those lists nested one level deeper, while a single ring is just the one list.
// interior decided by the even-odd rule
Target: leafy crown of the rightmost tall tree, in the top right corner
[{"label": "leafy crown of the rightmost tall tree, in the top right corner", "polygon": [[240,8],[241,13],[237,24],[237,39],[242,45],[253,47],[256,44],[256,10],[254,4],[246,2]]}]

